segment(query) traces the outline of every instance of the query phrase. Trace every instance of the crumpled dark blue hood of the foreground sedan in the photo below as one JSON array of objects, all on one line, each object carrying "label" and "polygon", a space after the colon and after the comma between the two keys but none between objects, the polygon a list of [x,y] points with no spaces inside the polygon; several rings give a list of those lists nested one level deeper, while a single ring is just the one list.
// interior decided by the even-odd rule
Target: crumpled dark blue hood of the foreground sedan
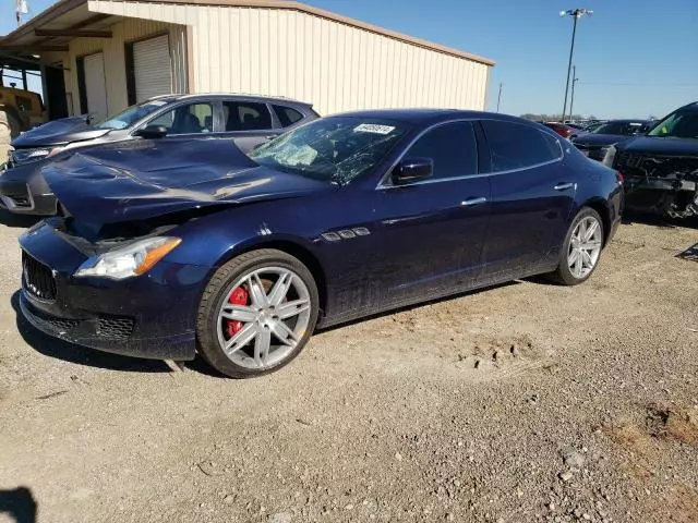
[{"label": "crumpled dark blue hood of the foreground sedan", "polygon": [[95,148],[41,172],[68,212],[100,223],[334,188],[327,181],[258,166],[220,139]]}]

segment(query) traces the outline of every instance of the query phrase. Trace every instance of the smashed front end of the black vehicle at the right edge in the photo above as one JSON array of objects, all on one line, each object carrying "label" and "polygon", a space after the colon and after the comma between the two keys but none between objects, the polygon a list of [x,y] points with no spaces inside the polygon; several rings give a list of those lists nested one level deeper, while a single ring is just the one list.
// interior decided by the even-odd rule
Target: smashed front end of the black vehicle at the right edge
[{"label": "smashed front end of the black vehicle at the right edge", "polygon": [[625,178],[625,206],[670,218],[698,215],[698,157],[618,151],[613,167]]}]

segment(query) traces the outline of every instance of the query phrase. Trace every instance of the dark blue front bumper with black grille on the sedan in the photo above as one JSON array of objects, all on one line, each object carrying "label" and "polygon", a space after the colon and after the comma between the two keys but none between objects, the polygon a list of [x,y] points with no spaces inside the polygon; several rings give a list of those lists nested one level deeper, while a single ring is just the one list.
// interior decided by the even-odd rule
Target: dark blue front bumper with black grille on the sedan
[{"label": "dark blue front bumper with black grille on the sedan", "polygon": [[210,268],[161,260],[147,273],[74,277],[88,255],[41,223],[24,234],[20,306],[29,324],[80,345],[129,356],[192,360],[195,305]]}]

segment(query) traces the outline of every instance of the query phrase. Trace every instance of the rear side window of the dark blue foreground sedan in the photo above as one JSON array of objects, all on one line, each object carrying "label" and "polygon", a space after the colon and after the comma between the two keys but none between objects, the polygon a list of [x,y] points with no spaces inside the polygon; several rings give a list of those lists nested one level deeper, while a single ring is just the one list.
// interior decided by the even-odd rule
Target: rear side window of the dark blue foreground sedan
[{"label": "rear side window of the dark blue foreground sedan", "polygon": [[492,172],[526,169],[562,157],[559,142],[538,129],[519,123],[482,122],[492,156]]}]

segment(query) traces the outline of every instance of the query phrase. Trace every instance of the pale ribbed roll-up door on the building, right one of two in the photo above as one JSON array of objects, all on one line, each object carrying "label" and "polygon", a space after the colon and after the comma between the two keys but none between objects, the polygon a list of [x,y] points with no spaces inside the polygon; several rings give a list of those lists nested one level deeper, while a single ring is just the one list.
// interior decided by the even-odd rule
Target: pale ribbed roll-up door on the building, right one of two
[{"label": "pale ribbed roll-up door on the building, right one of two", "polygon": [[167,35],[133,44],[136,101],[172,93],[172,65]]}]

